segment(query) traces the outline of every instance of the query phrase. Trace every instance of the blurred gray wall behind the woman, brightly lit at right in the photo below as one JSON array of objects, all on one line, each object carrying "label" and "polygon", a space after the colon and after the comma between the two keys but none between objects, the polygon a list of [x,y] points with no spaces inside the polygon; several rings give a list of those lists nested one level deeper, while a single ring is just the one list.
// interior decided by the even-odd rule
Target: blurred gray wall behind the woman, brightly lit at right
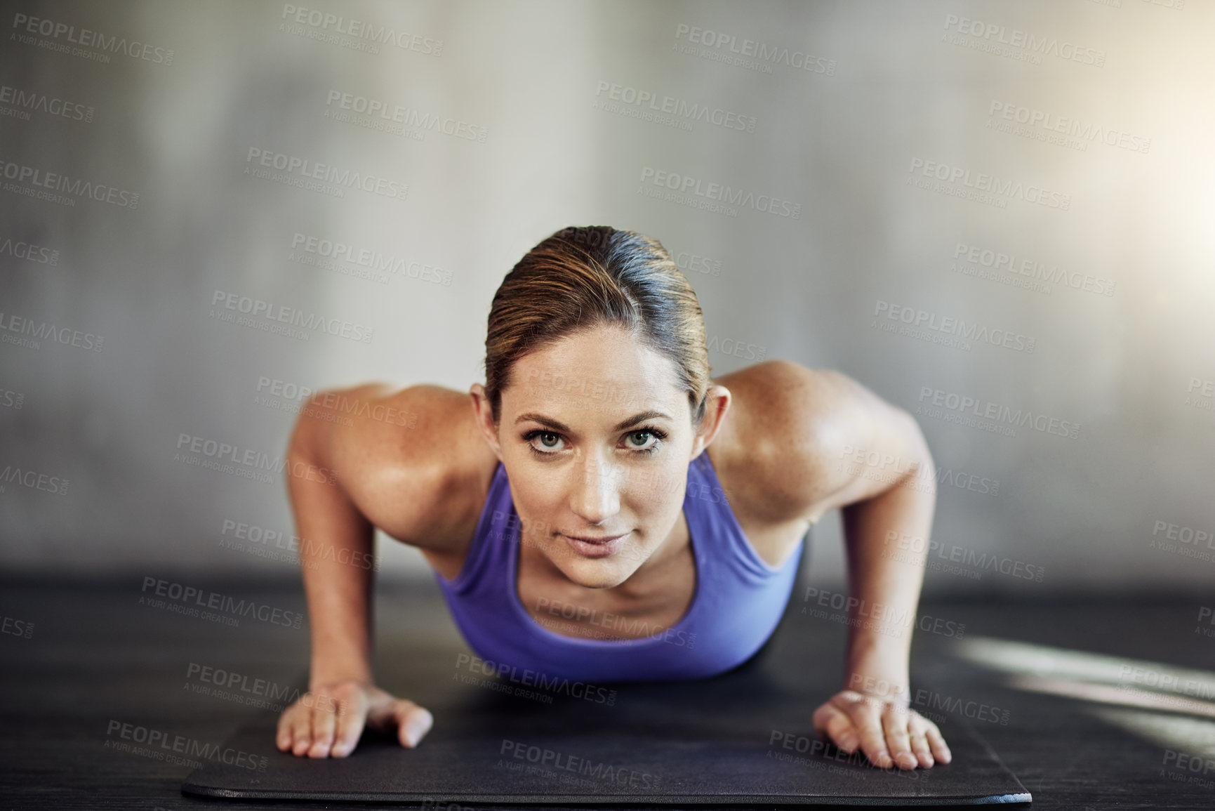
[{"label": "blurred gray wall behind the woman, brightly lit at right", "polygon": [[610,224],[679,258],[716,374],[916,413],[928,592],[1215,574],[1210,4],[2,7],[6,570],[289,574],[292,395],[467,390],[502,276]]}]

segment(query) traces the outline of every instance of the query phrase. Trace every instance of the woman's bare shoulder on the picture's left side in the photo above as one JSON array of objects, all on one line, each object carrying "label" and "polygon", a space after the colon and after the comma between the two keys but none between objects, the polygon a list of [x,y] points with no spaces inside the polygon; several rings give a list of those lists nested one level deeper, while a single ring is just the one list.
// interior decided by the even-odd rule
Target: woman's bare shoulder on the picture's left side
[{"label": "woman's bare shoulder on the picture's left side", "polygon": [[338,479],[367,519],[406,544],[442,550],[471,536],[497,457],[469,395],[372,383],[313,395],[332,432]]}]

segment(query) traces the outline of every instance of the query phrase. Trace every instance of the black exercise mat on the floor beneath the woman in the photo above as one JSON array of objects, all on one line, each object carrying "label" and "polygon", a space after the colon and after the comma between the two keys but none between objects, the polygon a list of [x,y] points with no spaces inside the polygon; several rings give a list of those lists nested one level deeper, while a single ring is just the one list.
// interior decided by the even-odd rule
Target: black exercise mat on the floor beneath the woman
[{"label": "black exercise mat on the floor beneath the woman", "polygon": [[[380,683],[434,715],[434,727],[416,749],[368,733],[349,758],[295,758],[275,748],[276,716],[265,715],[226,742],[224,751],[236,753],[232,758],[204,762],[182,790],[243,800],[402,802],[436,811],[453,802],[1030,801],[990,747],[953,715],[938,725],[954,759],[928,770],[880,770],[859,753],[849,756],[820,740],[810,715],[838,689],[832,677],[840,651],[823,641],[837,629],[796,616],[796,602],[750,661],[696,681],[537,683],[536,674],[499,672],[463,646],[406,646],[388,658],[382,651]],[[672,655],[679,655],[678,646]]]}]

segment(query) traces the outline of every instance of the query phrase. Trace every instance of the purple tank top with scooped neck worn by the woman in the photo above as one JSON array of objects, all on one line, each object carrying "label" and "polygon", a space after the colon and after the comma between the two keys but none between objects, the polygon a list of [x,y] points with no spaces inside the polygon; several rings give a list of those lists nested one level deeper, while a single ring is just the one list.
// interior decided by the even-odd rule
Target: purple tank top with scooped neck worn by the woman
[{"label": "purple tank top with scooped neck worn by the woman", "polygon": [[[691,606],[669,627],[643,629],[654,631],[643,638],[569,637],[524,609],[516,588],[520,522],[501,462],[464,565],[454,580],[437,571],[435,579],[465,642],[498,670],[586,682],[713,676],[750,659],[772,636],[792,593],[806,539],[779,569],[768,565],[742,534],[706,452],[688,466],[683,512],[696,561]],[[575,607],[552,603],[542,610],[556,625]],[[603,636],[620,636],[618,629],[635,623],[603,612],[590,621]]]}]

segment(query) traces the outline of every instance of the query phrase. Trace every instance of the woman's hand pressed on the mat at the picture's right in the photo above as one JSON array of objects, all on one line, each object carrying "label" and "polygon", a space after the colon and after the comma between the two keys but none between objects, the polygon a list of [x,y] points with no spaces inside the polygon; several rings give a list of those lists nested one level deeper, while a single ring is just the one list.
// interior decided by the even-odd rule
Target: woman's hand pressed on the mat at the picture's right
[{"label": "woman's hand pressed on the mat at the picture's right", "polygon": [[[903,704],[843,689],[814,710],[814,728],[878,768],[925,768],[953,760],[937,725]],[[893,754],[893,756],[892,756]]]}]

